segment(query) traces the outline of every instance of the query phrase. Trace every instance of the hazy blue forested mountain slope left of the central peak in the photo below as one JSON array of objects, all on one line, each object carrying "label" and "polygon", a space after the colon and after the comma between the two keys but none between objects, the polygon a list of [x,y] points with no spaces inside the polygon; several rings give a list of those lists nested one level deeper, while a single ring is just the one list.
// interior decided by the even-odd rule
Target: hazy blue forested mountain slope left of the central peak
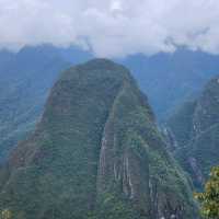
[{"label": "hazy blue forested mountain slope left of the central peak", "polygon": [[0,162],[35,128],[60,71],[90,57],[76,47],[49,45],[0,51]]}]

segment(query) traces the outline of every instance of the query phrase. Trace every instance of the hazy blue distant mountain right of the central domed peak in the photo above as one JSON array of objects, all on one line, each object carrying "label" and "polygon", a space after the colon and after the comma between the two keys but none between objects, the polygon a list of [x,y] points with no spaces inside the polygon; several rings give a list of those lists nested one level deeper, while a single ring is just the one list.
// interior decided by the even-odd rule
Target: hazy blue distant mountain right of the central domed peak
[{"label": "hazy blue distant mountain right of the central domed peak", "polygon": [[150,57],[134,55],[122,62],[148,94],[160,122],[184,101],[197,96],[204,84],[219,73],[219,56],[186,48]]}]

